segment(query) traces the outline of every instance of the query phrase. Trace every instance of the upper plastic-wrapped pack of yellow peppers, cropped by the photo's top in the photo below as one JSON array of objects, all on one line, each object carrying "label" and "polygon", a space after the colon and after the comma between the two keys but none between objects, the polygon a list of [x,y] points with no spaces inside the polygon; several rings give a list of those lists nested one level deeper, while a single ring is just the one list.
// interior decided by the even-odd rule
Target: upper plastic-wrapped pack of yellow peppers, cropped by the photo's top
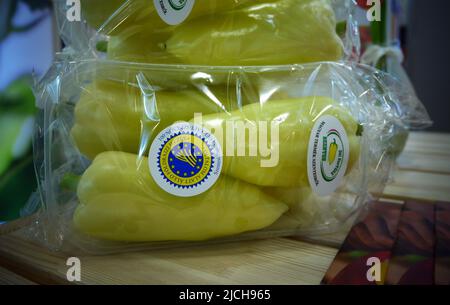
[{"label": "upper plastic-wrapped pack of yellow peppers, cropped by the photo's top", "polygon": [[78,22],[67,20],[66,1],[55,5],[62,38],[84,58],[282,65],[337,61],[355,47],[350,17],[348,35],[337,33],[335,11],[347,1],[84,0]]}]

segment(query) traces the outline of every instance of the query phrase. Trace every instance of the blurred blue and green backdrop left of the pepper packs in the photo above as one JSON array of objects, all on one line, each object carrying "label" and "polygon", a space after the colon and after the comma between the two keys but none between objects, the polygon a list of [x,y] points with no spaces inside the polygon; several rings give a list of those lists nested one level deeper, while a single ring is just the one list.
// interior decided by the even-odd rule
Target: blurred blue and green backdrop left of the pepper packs
[{"label": "blurred blue and green backdrop left of the pepper packs", "polygon": [[51,1],[0,0],[0,223],[16,219],[36,190],[32,85],[59,49]]}]

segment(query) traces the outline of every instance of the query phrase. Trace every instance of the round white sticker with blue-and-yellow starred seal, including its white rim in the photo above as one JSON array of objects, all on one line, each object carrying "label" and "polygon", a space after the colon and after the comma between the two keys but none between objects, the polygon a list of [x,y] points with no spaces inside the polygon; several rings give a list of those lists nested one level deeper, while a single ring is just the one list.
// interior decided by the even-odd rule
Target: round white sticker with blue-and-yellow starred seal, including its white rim
[{"label": "round white sticker with blue-and-yellow starred seal, including its white rim", "polygon": [[163,190],[179,197],[206,192],[220,176],[222,148],[214,135],[191,123],[161,131],[149,153],[150,173]]}]

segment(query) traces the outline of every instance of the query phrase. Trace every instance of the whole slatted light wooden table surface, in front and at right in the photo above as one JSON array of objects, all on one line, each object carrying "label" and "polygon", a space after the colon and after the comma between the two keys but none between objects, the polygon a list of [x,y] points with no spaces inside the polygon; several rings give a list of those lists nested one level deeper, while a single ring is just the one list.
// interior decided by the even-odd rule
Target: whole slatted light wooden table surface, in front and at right
[{"label": "whole slatted light wooden table surface, in front and at right", "polygon": [[[450,200],[450,135],[413,133],[383,197]],[[0,284],[67,284],[67,255],[25,241],[25,221],[0,226]],[[346,232],[80,256],[84,284],[318,284]]]}]

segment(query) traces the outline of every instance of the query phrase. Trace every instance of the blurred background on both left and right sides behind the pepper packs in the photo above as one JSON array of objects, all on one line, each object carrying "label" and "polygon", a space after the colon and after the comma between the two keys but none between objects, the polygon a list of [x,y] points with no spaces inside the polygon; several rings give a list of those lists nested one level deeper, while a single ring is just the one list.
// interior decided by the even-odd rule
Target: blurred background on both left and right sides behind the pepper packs
[{"label": "blurred background on both left and right sides behind the pepper packs", "polygon": [[[367,1],[355,1],[363,51],[371,44],[401,47],[403,66],[435,122],[431,130],[450,132],[450,2],[382,0],[381,22],[368,22]],[[51,7],[51,0],[0,0],[0,223],[20,217],[36,189],[32,87],[62,47]]]}]

